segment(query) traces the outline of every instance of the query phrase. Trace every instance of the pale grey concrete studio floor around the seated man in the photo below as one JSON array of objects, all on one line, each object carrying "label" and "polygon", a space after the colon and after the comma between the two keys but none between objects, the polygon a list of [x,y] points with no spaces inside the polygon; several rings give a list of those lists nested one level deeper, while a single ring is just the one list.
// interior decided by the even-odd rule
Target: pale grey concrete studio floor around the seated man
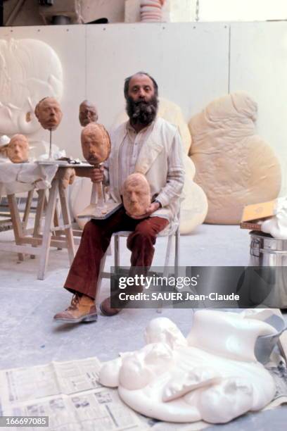
[{"label": "pale grey concrete studio floor around the seated man", "polygon": [[[0,232],[0,240],[9,241],[12,232]],[[165,238],[158,238],[154,265],[161,266],[165,256]],[[182,236],[181,266],[247,266],[248,231],[238,226],[202,225],[193,235]],[[17,254],[0,251],[0,368],[34,366],[50,361],[68,361],[98,356],[101,361],[115,358],[119,351],[138,349],[144,344],[144,328],[155,309],[127,309],[97,323],[82,325],[57,324],[53,315],[70,302],[70,294],[62,288],[68,273],[66,251],[52,250],[44,281],[36,280],[37,258],[18,262]],[[125,239],[121,239],[121,263],[129,264]],[[112,264],[109,256],[106,270]],[[104,280],[101,298],[108,296],[109,283]],[[184,335],[190,330],[191,309],[165,309],[161,316],[171,318]],[[286,429],[287,408],[249,414],[224,425],[227,430]],[[284,419],[285,416],[285,419]],[[257,426],[257,425],[258,426]],[[269,426],[267,426],[267,424]],[[284,425],[284,426],[283,426]],[[222,426],[210,427],[221,429]],[[176,430],[176,427],[174,427]]]}]

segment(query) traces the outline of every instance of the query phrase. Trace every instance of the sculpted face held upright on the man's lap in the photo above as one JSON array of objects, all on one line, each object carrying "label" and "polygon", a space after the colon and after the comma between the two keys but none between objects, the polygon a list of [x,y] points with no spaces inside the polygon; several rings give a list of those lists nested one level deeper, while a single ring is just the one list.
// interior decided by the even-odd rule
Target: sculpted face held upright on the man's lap
[{"label": "sculpted face held upright on the man's lap", "polygon": [[146,177],[141,173],[129,175],[123,185],[122,197],[127,213],[134,216],[146,213],[151,205],[151,188]]}]

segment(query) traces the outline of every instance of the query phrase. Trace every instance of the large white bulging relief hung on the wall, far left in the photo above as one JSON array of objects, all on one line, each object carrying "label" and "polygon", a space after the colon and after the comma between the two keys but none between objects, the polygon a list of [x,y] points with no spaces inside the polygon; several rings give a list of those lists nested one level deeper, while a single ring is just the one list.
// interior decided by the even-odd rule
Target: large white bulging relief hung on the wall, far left
[{"label": "large white bulging relief hung on the wall, far left", "polygon": [[62,65],[51,46],[37,39],[0,40],[0,134],[35,132],[38,101],[62,94]]}]

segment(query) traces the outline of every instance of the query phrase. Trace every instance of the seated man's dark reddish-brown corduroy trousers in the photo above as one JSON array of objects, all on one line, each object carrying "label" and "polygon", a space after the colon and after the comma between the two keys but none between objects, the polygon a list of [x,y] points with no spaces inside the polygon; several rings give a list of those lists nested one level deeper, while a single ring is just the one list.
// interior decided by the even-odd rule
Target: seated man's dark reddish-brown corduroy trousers
[{"label": "seated man's dark reddish-brown corduroy trousers", "polygon": [[130,218],[120,208],[106,220],[91,220],[85,225],[79,249],[65,281],[65,289],[95,299],[98,273],[110,238],[120,230],[132,230],[127,237],[127,248],[132,251],[131,265],[149,268],[153,261],[156,235],[168,225],[162,217],[142,220]]}]

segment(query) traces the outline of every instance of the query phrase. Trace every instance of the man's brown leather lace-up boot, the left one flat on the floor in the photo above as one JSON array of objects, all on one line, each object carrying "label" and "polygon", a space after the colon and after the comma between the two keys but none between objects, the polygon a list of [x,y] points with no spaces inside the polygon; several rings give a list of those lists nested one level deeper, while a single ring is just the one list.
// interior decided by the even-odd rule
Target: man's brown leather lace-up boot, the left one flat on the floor
[{"label": "man's brown leather lace-up boot, the left one flat on the floor", "polygon": [[94,299],[78,294],[72,297],[71,304],[65,311],[54,316],[55,320],[66,323],[92,322],[96,321],[97,318]]}]

